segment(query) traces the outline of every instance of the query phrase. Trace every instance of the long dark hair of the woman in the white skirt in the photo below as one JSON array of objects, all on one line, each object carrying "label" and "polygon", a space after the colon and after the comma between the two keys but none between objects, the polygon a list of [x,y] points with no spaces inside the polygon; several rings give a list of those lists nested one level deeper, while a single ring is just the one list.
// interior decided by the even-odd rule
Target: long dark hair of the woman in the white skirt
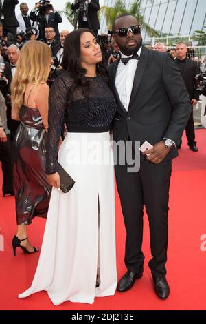
[{"label": "long dark hair of the woman in the white skirt", "polygon": [[[69,102],[73,101],[73,93],[77,88],[82,88],[85,97],[88,97],[90,81],[85,77],[87,70],[81,65],[81,46],[80,37],[84,32],[90,32],[95,37],[92,30],[80,28],[74,30],[65,37],[64,54],[62,59],[62,68],[71,74],[73,85],[70,89]],[[96,38],[96,37],[95,37]],[[100,74],[106,82],[108,82],[108,74],[106,65],[102,62],[97,64],[97,73]]]}]

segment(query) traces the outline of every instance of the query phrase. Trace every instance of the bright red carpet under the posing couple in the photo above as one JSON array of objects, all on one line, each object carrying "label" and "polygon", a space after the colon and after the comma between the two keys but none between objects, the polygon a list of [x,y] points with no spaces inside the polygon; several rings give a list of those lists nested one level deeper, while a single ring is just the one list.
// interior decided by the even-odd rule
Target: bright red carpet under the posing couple
[{"label": "bright red carpet under the posing couple", "polygon": [[[185,137],[179,159],[173,164],[170,188],[168,282],[170,297],[159,300],[153,290],[148,260],[150,245],[148,221],[144,217],[144,276],[132,290],[117,292],[113,297],[95,298],[93,305],[63,303],[55,307],[46,292],[19,300],[17,294],[30,286],[39,254],[27,255],[20,250],[12,255],[11,240],[16,232],[14,198],[0,196],[0,234],[4,251],[0,252],[1,310],[206,310],[206,251],[201,251],[201,236],[206,234],[206,130],[197,130],[199,152],[188,150]],[[117,270],[118,277],[126,271],[124,265],[125,230],[117,196]],[[31,241],[41,246],[45,221],[35,219],[29,227]],[[205,244],[206,246],[206,244]],[[84,270],[82,270],[84,271]]]}]

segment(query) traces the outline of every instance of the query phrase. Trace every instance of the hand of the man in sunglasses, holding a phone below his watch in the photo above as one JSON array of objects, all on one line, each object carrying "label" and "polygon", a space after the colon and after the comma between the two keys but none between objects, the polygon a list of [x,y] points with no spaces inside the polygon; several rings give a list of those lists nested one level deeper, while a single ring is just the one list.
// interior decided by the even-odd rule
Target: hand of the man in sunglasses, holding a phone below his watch
[{"label": "hand of the man in sunglasses, holding a phone below his watch", "polygon": [[150,156],[147,156],[146,159],[152,163],[159,164],[169,152],[170,148],[166,148],[165,143],[161,141],[156,143],[150,150],[144,151],[142,154],[150,154]]}]

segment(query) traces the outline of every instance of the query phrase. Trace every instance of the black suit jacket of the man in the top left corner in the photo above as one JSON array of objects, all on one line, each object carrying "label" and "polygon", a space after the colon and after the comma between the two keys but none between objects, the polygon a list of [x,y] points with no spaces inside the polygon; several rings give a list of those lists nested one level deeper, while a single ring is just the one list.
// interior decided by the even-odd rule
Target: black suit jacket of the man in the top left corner
[{"label": "black suit jacket of the man in the top left corner", "polygon": [[19,23],[15,15],[15,6],[19,3],[18,0],[4,0],[2,14],[4,16],[5,26],[18,27]]}]

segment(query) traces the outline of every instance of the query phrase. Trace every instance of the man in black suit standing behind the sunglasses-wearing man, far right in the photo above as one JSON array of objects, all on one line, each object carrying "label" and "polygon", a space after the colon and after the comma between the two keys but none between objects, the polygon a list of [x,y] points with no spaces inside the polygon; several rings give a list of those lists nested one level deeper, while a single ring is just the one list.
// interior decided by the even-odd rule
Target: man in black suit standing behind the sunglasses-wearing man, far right
[{"label": "man in black suit standing behind the sunglasses-wearing man, far right", "polygon": [[181,72],[185,82],[185,87],[187,88],[190,97],[190,118],[185,128],[188,146],[193,152],[198,152],[195,141],[193,119],[193,105],[196,105],[199,100],[199,94],[198,91],[196,91],[196,88],[198,88],[198,81],[195,79],[196,75],[199,73],[198,65],[196,62],[187,58],[187,46],[182,42],[176,45],[176,59],[174,62]]}]

